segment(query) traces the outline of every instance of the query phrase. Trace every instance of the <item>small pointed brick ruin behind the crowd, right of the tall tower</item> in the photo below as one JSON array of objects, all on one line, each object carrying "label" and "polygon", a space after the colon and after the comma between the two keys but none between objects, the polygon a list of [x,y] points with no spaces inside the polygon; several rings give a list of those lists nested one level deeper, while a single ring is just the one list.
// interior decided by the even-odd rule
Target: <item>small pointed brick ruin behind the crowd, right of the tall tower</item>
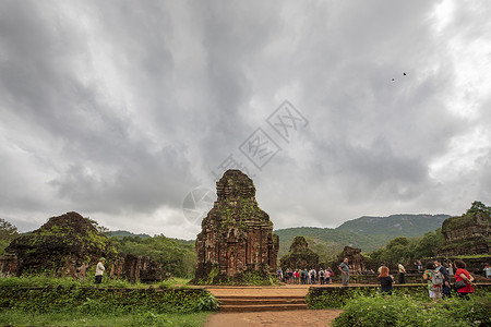
[{"label": "small pointed brick ruin behind the crowd, right of the tall tower", "polygon": [[285,269],[319,269],[319,254],[309,249],[306,238],[296,237],[288,254],[280,258],[280,267]]}]

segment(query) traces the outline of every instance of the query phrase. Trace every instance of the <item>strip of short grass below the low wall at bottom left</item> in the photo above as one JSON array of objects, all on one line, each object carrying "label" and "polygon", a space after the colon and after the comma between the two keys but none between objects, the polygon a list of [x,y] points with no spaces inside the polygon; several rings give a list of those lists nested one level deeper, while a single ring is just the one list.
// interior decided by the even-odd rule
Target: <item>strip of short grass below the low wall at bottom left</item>
[{"label": "strip of short grass below the low wall at bottom left", "polygon": [[33,314],[19,310],[0,311],[0,326],[203,326],[209,313],[99,314],[46,313]]}]

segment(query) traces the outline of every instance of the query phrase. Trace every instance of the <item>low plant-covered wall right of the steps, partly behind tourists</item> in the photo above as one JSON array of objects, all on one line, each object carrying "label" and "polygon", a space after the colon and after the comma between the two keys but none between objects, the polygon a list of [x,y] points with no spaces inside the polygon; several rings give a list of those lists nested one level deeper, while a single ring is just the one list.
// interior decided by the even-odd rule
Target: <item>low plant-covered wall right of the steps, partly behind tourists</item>
[{"label": "low plant-covered wall right of the steps, partly behind tourists", "polygon": [[[372,295],[380,291],[380,287],[348,286],[348,287],[311,287],[306,302],[309,308],[343,307],[348,300],[356,295]],[[491,283],[478,283],[476,293],[482,294],[491,291]],[[407,294],[410,296],[428,296],[428,286],[420,284],[394,284],[394,294]]]}]

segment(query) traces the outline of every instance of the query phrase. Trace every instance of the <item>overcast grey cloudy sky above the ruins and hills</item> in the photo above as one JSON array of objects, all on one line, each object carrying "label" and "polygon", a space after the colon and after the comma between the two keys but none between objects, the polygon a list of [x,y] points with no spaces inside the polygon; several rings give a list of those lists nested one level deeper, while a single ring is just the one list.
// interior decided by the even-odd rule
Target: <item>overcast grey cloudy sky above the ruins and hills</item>
[{"label": "overcast grey cloudy sky above the ruins and hills", "polygon": [[[194,239],[491,204],[490,1],[0,0],[0,218]],[[202,215],[202,216],[200,216]]]}]

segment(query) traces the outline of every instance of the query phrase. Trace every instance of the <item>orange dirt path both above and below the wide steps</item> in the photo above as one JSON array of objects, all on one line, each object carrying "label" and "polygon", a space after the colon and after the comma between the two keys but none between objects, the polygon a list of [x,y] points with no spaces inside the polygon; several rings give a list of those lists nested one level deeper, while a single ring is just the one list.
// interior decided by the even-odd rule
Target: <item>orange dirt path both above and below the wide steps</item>
[{"label": "orange dirt path both above and below the wide steps", "polygon": [[[310,286],[283,287],[206,287],[220,296],[306,296]],[[331,287],[331,286],[325,286]],[[296,310],[277,312],[216,313],[209,316],[205,327],[242,326],[331,326],[340,310]]]}]

